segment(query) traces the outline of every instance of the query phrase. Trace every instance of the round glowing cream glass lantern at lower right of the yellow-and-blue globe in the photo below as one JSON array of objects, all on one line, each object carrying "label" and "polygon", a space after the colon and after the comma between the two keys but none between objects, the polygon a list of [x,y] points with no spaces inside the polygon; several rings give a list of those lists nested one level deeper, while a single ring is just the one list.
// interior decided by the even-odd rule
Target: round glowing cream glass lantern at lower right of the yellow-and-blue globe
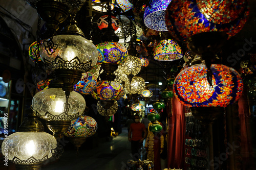
[{"label": "round glowing cream glass lantern at lower right of the yellow-and-blue globe", "polygon": [[128,55],[122,63],[122,68],[126,75],[137,75],[141,69],[141,60],[136,56]]}]

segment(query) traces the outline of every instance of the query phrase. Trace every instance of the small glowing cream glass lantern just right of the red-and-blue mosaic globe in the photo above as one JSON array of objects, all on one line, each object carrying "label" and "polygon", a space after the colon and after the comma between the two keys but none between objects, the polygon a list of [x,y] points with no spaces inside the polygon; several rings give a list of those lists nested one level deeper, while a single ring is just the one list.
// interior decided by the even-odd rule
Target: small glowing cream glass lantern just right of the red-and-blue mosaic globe
[{"label": "small glowing cream glass lantern just right of the red-and-blue mosaic globe", "polygon": [[141,77],[133,77],[130,84],[130,93],[140,94],[145,88],[145,81]]}]

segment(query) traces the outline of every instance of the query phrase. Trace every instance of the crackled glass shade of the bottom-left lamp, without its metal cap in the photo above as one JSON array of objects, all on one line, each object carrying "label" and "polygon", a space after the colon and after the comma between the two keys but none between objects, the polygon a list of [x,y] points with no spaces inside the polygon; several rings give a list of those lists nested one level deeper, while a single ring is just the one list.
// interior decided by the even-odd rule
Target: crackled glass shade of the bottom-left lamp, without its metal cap
[{"label": "crackled glass shade of the bottom-left lamp, without its metal cap", "polygon": [[35,164],[52,157],[56,144],[56,139],[46,132],[16,132],[5,138],[2,152],[15,164]]}]

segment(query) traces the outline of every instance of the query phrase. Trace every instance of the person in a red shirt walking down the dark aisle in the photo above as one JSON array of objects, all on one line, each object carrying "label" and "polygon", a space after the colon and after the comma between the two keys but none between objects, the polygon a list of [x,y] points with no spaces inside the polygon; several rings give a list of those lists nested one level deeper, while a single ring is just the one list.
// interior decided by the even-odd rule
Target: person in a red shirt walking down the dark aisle
[{"label": "person in a red shirt walking down the dark aisle", "polygon": [[[141,147],[142,147],[142,142],[145,139],[147,132],[145,125],[139,122],[139,115],[134,116],[134,122],[130,126],[130,130],[128,133],[128,140],[131,141],[131,149],[132,149],[132,155],[133,159],[135,161],[138,161],[141,156]],[[144,132],[144,135],[142,136],[142,132]]]}]

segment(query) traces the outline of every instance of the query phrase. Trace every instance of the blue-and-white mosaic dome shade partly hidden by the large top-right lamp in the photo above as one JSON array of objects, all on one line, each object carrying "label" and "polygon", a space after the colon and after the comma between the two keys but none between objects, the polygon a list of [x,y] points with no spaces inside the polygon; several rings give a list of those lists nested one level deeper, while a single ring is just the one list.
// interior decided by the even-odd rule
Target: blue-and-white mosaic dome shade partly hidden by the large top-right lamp
[{"label": "blue-and-white mosaic dome shade partly hidden by the large top-right lamp", "polygon": [[157,31],[168,31],[165,25],[165,11],[172,0],[153,0],[144,12],[145,26]]}]

